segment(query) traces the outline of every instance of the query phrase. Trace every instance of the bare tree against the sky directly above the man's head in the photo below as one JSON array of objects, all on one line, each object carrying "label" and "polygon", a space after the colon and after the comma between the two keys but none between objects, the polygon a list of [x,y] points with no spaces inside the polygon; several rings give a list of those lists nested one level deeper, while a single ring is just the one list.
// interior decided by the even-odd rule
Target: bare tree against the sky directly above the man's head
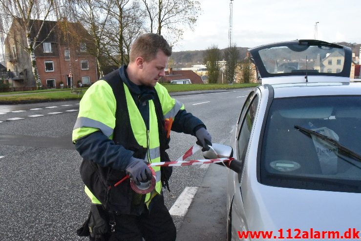
[{"label": "bare tree against the sky directly above the man's head", "polygon": [[[182,38],[183,26],[193,26],[201,10],[197,0],[142,0],[149,20],[150,32],[161,35],[166,29],[173,42]],[[183,25],[183,26],[182,26]],[[170,36],[173,34],[173,36]]]}]

